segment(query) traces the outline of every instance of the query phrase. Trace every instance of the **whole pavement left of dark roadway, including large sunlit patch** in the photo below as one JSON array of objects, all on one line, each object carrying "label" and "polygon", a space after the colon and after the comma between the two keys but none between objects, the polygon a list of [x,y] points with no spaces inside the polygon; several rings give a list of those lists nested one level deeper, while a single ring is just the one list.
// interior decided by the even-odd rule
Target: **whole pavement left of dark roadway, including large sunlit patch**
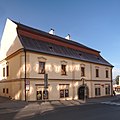
[{"label": "whole pavement left of dark roadway, including large sunlit patch", "polygon": [[69,100],[69,101],[47,101],[47,102],[26,102],[10,100],[5,97],[0,97],[0,115],[14,114],[14,119],[29,118],[37,114],[45,114],[46,112],[54,112],[58,108],[65,108],[70,106],[80,106],[87,104],[95,104],[106,101],[119,101],[120,96],[113,97],[102,97],[102,98],[91,98],[85,103],[80,100]]}]

